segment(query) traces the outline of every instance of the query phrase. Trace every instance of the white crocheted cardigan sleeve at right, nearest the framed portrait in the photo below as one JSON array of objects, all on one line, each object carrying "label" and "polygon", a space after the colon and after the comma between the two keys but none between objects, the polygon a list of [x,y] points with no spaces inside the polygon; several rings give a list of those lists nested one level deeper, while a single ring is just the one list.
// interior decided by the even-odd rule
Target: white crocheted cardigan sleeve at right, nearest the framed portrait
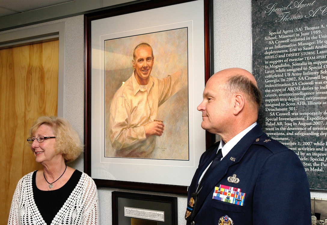
[{"label": "white crocheted cardigan sleeve at right, nearest the framed portrait", "polygon": [[99,223],[99,199],[98,192],[94,181],[86,178],[87,188],[84,192],[86,206],[83,212],[83,225],[97,225]]}]

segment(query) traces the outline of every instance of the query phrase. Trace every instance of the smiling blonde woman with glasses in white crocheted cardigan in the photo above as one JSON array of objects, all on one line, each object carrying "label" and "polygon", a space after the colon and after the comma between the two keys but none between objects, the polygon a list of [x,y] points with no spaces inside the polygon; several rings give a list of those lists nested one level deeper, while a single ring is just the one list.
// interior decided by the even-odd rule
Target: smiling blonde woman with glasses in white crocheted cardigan
[{"label": "smiling blonde woman with glasses in white crocheted cardigan", "polygon": [[27,142],[43,169],[25,175],[18,182],[8,224],[98,224],[99,203],[94,181],[66,164],[83,152],[83,145],[69,121],[42,116],[29,134]]}]

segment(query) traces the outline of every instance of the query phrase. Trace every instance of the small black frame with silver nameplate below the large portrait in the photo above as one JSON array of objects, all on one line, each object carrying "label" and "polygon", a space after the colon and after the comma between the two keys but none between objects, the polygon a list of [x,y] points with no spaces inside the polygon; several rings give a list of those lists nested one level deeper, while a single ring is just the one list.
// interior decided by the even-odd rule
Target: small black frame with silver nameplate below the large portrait
[{"label": "small black frame with silver nameplate below the large portrait", "polygon": [[177,225],[177,198],[112,192],[113,225]]}]

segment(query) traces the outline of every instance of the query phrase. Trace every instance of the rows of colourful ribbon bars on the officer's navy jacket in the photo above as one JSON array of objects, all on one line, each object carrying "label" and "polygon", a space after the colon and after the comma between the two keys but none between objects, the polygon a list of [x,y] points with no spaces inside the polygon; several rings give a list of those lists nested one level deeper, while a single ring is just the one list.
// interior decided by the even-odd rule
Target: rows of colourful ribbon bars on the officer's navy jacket
[{"label": "rows of colourful ribbon bars on the officer's navy jacket", "polygon": [[223,202],[228,202],[235,205],[243,206],[245,193],[241,192],[240,188],[230,187],[220,184],[215,187],[213,199]]}]

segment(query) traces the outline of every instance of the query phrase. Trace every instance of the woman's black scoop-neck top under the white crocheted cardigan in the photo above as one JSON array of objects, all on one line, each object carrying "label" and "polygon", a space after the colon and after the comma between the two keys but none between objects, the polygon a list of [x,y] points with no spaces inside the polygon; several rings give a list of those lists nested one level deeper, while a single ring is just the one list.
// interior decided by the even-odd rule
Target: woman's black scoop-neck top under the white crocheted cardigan
[{"label": "woman's black scoop-neck top under the white crocheted cardigan", "polygon": [[82,172],[75,170],[67,183],[61,188],[53,191],[42,191],[36,187],[36,171],[33,173],[32,188],[34,201],[47,225],[51,224],[53,218],[73,192],[81,176]]}]

